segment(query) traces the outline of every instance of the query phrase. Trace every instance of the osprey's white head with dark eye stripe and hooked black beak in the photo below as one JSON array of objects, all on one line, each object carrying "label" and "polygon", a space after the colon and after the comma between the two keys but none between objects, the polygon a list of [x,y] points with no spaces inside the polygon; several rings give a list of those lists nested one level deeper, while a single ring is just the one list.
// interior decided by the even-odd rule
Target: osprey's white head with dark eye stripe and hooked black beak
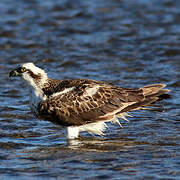
[{"label": "osprey's white head with dark eye stripe and hooked black beak", "polygon": [[22,64],[9,73],[9,77],[17,76],[24,79],[33,87],[43,85],[48,78],[45,71],[35,66],[33,63]]}]

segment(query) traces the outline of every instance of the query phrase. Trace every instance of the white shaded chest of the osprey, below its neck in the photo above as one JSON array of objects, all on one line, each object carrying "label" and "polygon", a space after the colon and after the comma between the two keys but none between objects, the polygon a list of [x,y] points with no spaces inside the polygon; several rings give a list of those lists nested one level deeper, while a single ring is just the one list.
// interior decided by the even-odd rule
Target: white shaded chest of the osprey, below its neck
[{"label": "white shaded chest of the osprey, below its neck", "polygon": [[41,101],[45,100],[46,97],[43,96],[40,91],[30,91],[30,108],[33,113],[38,114],[38,105]]}]

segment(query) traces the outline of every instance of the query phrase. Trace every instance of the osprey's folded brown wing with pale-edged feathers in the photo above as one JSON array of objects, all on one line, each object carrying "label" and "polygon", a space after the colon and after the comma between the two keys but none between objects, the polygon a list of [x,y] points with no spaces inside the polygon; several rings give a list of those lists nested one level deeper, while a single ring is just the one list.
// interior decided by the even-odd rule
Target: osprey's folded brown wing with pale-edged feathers
[{"label": "osprey's folded brown wing with pale-edged feathers", "polygon": [[114,114],[154,101],[145,98],[143,88],[120,88],[94,80],[71,80],[70,87],[74,88],[42,101],[38,107],[39,116],[63,126],[79,126],[109,120]]}]

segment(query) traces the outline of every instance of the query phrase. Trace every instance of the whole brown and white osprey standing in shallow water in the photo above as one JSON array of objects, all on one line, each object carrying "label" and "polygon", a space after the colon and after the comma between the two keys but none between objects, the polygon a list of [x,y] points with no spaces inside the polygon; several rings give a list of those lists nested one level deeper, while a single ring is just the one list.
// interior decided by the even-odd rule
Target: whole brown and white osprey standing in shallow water
[{"label": "whole brown and white osprey standing in shallow water", "polygon": [[141,88],[121,88],[91,79],[56,80],[33,63],[25,63],[9,73],[20,76],[30,89],[30,107],[40,119],[67,127],[67,138],[87,131],[104,135],[105,122],[126,119],[127,112],[144,109],[168,96],[164,84]]}]

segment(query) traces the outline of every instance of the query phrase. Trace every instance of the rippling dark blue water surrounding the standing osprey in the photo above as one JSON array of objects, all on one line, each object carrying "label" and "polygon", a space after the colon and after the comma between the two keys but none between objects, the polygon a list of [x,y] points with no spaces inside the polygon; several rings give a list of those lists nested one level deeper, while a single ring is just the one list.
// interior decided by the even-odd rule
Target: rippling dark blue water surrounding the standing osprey
[{"label": "rippling dark blue water surrounding the standing osprey", "polygon": [[[180,1],[1,0],[0,17],[0,179],[180,178]],[[70,145],[8,78],[29,61],[57,79],[166,83],[172,98]]]}]

